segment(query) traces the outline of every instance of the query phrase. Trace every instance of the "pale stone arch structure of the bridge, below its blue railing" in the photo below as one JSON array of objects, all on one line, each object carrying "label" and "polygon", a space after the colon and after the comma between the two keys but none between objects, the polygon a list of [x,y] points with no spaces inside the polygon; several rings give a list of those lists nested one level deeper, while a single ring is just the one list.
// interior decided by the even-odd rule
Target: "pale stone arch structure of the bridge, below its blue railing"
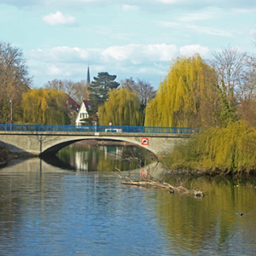
[{"label": "pale stone arch structure of the bridge, below its blue railing", "polygon": [[91,139],[122,141],[147,148],[156,155],[172,151],[190,134],[141,132],[0,131],[0,144],[12,152],[35,155],[56,154],[61,148]]}]

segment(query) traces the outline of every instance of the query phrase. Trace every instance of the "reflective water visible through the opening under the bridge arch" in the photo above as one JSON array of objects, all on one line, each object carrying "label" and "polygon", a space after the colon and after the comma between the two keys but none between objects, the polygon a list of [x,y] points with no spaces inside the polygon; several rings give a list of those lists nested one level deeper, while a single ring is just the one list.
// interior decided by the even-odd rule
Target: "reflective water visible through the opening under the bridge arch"
[{"label": "reflective water visible through the opening under the bridge arch", "polygon": [[79,172],[133,170],[156,160],[154,154],[137,146],[74,143],[56,155],[65,165]]}]

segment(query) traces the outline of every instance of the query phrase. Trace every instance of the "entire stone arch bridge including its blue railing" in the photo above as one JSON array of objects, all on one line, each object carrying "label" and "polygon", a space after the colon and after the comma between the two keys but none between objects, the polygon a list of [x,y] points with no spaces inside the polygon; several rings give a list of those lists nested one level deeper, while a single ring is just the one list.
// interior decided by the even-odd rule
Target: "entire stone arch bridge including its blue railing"
[{"label": "entire stone arch bridge including its blue railing", "polygon": [[46,155],[79,141],[114,140],[133,143],[160,155],[172,152],[175,144],[191,133],[188,127],[0,125],[0,145],[12,152]]}]

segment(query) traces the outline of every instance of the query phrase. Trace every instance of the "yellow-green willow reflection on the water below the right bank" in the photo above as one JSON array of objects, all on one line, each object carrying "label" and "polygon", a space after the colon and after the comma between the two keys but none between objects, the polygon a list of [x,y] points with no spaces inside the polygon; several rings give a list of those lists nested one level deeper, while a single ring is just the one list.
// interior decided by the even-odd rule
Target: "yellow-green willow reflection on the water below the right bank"
[{"label": "yellow-green willow reflection on the water below the right bank", "polygon": [[[169,182],[202,189],[206,196],[166,195],[157,191],[160,225],[176,252],[209,255],[254,255],[256,253],[255,177],[169,177]],[[163,201],[165,203],[163,203]],[[244,214],[240,216],[239,212]]]}]

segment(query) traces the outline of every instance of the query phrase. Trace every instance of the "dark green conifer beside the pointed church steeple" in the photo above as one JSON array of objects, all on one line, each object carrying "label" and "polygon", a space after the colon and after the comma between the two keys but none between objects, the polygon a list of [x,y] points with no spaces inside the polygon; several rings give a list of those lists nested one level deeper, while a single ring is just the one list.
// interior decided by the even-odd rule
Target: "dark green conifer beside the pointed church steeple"
[{"label": "dark green conifer beside the pointed church steeple", "polygon": [[102,106],[104,102],[108,101],[109,90],[116,89],[119,86],[118,82],[115,82],[116,75],[110,75],[108,72],[98,73],[97,77],[90,83],[90,102],[94,102],[94,107],[90,110],[89,115],[96,118],[96,113],[99,106]]}]

